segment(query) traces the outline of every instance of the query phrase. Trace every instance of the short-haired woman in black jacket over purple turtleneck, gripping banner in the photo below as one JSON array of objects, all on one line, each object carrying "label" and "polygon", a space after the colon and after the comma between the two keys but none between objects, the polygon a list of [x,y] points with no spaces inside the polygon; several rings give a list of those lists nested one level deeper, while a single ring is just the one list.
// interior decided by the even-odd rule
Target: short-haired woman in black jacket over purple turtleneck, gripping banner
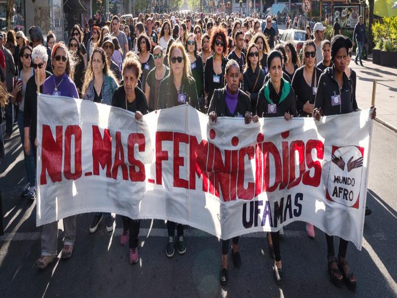
[{"label": "short-haired woman in black jacket over purple turtleneck, gripping banner", "polygon": [[[258,122],[258,117],[252,116],[250,97],[239,89],[240,67],[238,63],[231,59],[225,67],[226,86],[221,89],[215,89],[208,108],[209,122],[214,123],[218,116],[226,117],[244,117],[245,124],[251,120]],[[232,257],[236,267],[241,266],[241,257],[239,253],[239,237],[232,239]],[[222,240],[222,265],[219,273],[220,284],[225,286],[228,280],[228,253],[230,240]]]}]

